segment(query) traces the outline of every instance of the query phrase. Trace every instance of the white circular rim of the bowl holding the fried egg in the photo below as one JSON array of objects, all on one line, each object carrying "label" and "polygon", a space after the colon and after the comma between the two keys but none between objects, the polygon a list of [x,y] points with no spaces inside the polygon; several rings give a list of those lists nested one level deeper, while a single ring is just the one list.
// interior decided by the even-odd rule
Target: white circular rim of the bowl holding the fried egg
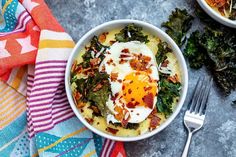
[{"label": "white circular rim of the bowl holding the fried egg", "polygon": [[[85,119],[84,117],[79,113],[79,110],[77,109],[73,97],[72,97],[72,91],[71,91],[71,87],[70,87],[70,80],[69,80],[69,76],[70,76],[70,69],[71,69],[71,65],[73,63],[73,59],[76,55],[78,55],[79,51],[78,48],[81,46],[81,44],[83,44],[83,42],[92,34],[95,34],[98,30],[104,28],[104,27],[108,27],[110,25],[116,25],[116,24],[129,24],[129,23],[134,23],[137,25],[140,25],[141,27],[145,27],[151,30],[154,30],[156,32],[156,34],[159,34],[160,36],[162,36],[162,38],[172,47],[174,53],[176,55],[178,55],[178,61],[179,64],[181,66],[181,70],[182,70],[182,79],[184,82],[184,85],[182,86],[182,95],[181,98],[178,102],[177,107],[175,108],[174,112],[171,114],[171,116],[166,119],[165,122],[163,122],[158,128],[156,128],[155,130],[151,131],[151,132],[147,132],[144,133],[142,135],[138,135],[138,136],[133,136],[133,137],[122,137],[122,136],[115,136],[115,135],[110,135],[107,134],[105,132],[102,132],[100,130],[98,130],[97,128],[93,127],[92,125],[90,125]],[[113,20],[113,21],[109,21],[109,22],[105,22],[101,25],[96,26],[95,28],[91,29],[90,31],[88,31],[85,35],[82,36],[82,38],[80,38],[80,40],[76,43],[74,49],[72,50],[68,62],[67,62],[67,66],[66,66],[66,72],[65,72],[65,87],[66,87],[66,95],[67,98],[69,100],[69,104],[72,108],[72,110],[74,111],[75,115],[78,117],[78,119],[87,127],[89,128],[91,131],[93,131],[94,133],[111,139],[111,140],[115,140],[115,141],[124,141],[124,142],[129,142],[129,141],[138,141],[138,140],[142,140],[148,137],[151,137],[155,134],[157,134],[158,132],[162,131],[164,128],[166,128],[174,119],[175,117],[178,115],[178,113],[180,112],[184,101],[186,99],[186,95],[187,95],[187,89],[188,89],[188,70],[187,70],[187,65],[185,62],[185,59],[183,57],[183,54],[181,52],[181,50],[179,49],[179,47],[176,45],[176,43],[161,29],[157,28],[156,26],[149,24],[147,22],[143,22],[143,21],[139,21],[139,20],[132,20],[132,19],[119,19],[119,20]]]}]

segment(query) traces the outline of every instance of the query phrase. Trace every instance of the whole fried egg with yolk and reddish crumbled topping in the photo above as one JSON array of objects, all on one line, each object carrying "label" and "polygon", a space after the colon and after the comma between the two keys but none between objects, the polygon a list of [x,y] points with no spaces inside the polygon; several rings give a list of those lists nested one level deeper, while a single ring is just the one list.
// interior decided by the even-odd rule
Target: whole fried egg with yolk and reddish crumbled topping
[{"label": "whole fried egg with yolk and reddish crumbled topping", "polygon": [[159,80],[155,56],[145,43],[114,43],[99,71],[110,75],[107,122],[126,125],[144,121],[155,107]]}]

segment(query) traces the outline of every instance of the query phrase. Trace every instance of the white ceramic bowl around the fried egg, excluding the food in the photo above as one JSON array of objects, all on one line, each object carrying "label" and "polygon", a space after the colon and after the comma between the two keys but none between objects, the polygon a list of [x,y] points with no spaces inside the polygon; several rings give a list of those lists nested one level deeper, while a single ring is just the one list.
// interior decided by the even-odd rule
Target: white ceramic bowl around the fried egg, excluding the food
[{"label": "white ceramic bowl around the fried egg, excluding the food", "polygon": [[[176,55],[178,62],[180,64],[180,68],[181,68],[181,72],[182,72],[182,80],[183,80],[182,85],[183,85],[183,87],[182,87],[181,96],[180,96],[180,99],[179,99],[176,109],[173,111],[173,114],[164,123],[162,123],[160,125],[160,127],[156,128],[152,132],[148,132],[148,133],[145,133],[145,134],[142,134],[139,136],[135,136],[135,137],[118,137],[118,136],[113,136],[113,135],[104,133],[104,132],[94,128],[80,114],[80,111],[76,108],[76,105],[75,105],[73,97],[72,97],[72,91],[71,91],[71,87],[70,87],[70,69],[71,69],[74,59],[77,57],[80,50],[87,43],[89,43],[89,41],[91,40],[91,38],[94,35],[99,35],[100,33],[103,33],[103,32],[109,32],[110,30],[113,30],[116,28],[123,28],[129,23],[134,23],[135,25],[141,26],[144,31],[150,32],[151,34],[158,36],[162,41],[166,41],[169,44],[169,46],[172,48],[172,50],[173,50],[174,54]],[[73,109],[76,116],[80,119],[80,121],[87,128],[89,128],[91,131],[95,132],[96,134],[103,136],[105,138],[108,138],[108,139],[112,139],[112,140],[116,140],[116,141],[137,141],[137,140],[141,140],[141,139],[153,136],[156,133],[163,130],[164,128],[166,128],[174,120],[174,118],[177,116],[177,114],[180,112],[180,109],[183,106],[183,103],[184,103],[184,100],[186,97],[186,93],[187,93],[188,71],[187,71],[186,62],[184,60],[182,52],[180,51],[179,47],[175,44],[175,42],[165,32],[163,32],[162,30],[160,30],[159,28],[157,28],[151,24],[148,24],[148,23],[142,22],[142,21],[128,20],[128,19],[127,20],[114,20],[114,21],[110,21],[110,22],[101,24],[101,25],[93,28],[78,41],[78,43],[74,47],[74,49],[69,57],[69,60],[67,63],[66,75],[65,75],[65,86],[66,86],[66,93],[67,93],[67,97],[68,97],[69,103],[71,105],[71,108]]]}]

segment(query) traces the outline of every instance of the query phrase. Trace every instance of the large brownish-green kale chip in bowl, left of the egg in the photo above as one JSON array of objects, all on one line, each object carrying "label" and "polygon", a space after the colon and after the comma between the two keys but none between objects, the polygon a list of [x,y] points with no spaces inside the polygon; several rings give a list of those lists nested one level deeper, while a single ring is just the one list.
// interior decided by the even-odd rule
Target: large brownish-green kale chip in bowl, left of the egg
[{"label": "large brownish-green kale chip in bowl, left of the egg", "polygon": [[[98,71],[93,76],[88,76],[86,79],[76,80],[76,90],[82,95],[83,102],[90,101],[93,105],[97,106],[101,114],[105,116],[106,101],[111,94],[111,87],[108,81],[108,75],[99,73]],[[101,87],[95,90],[98,86]]]}]

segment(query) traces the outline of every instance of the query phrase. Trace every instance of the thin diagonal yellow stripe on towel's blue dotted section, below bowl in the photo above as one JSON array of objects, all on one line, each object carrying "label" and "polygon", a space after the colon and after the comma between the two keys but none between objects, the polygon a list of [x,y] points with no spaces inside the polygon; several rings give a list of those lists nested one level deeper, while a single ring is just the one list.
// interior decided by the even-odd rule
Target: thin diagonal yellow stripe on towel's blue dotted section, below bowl
[{"label": "thin diagonal yellow stripe on towel's blue dotted section, below bowl", "polygon": [[68,138],[70,138],[70,137],[73,137],[74,135],[80,134],[81,132],[83,132],[83,131],[85,131],[85,130],[87,130],[87,128],[86,128],[86,127],[83,127],[83,128],[81,128],[81,129],[79,129],[79,130],[77,130],[77,131],[75,131],[75,132],[72,132],[72,133],[70,133],[70,134],[68,134],[68,135],[66,135],[66,136],[63,136],[63,137],[61,137],[59,140],[57,140],[56,142],[54,142],[54,143],[52,143],[52,144],[50,144],[50,145],[48,145],[48,146],[46,146],[46,147],[44,147],[44,148],[40,148],[40,149],[38,150],[38,153],[41,153],[41,152],[43,152],[43,151],[45,151],[45,150],[48,150],[48,149],[50,149],[50,148],[56,146],[57,144],[61,143],[62,141],[66,140],[66,139],[68,139]]}]

